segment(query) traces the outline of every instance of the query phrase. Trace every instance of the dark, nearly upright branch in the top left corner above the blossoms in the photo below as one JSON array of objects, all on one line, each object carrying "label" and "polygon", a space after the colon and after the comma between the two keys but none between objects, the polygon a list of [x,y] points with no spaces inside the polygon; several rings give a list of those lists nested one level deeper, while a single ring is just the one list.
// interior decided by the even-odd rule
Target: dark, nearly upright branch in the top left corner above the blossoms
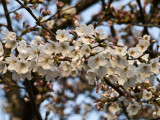
[{"label": "dark, nearly upright branch in the top left corner above the blossoms", "polygon": [[11,23],[11,19],[10,19],[10,16],[9,16],[9,12],[8,12],[8,9],[7,9],[7,3],[6,3],[6,0],[1,0],[2,2],[2,5],[3,5],[3,8],[4,8],[4,12],[5,12],[5,17],[7,19],[7,25],[8,25],[8,29],[9,31],[13,31],[13,28],[12,28],[12,23]]}]

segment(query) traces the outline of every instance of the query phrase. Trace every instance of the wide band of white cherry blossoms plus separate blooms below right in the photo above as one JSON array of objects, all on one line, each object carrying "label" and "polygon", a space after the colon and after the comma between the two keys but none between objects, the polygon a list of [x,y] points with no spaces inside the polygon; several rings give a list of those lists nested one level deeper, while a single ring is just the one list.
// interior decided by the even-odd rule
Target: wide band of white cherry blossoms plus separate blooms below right
[{"label": "wide band of white cherry blossoms plus separate blooms below right", "polygon": [[[45,77],[46,81],[82,75],[90,85],[105,77],[129,89],[137,83],[153,83],[160,69],[159,58],[150,59],[147,53],[151,44],[148,35],[139,38],[135,47],[128,48],[122,43],[108,42],[102,29],[85,24],[70,34],[64,29],[57,30],[55,39],[45,42],[40,36],[27,43],[17,39],[15,32],[2,31],[2,34],[0,72],[10,71],[16,81],[31,80],[31,73]],[[72,39],[72,35],[77,39]],[[152,91],[144,90],[142,99],[151,98]],[[114,103],[110,111],[116,111],[117,106]],[[127,107],[132,115],[139,109],[141,105],[136,101]]]}]

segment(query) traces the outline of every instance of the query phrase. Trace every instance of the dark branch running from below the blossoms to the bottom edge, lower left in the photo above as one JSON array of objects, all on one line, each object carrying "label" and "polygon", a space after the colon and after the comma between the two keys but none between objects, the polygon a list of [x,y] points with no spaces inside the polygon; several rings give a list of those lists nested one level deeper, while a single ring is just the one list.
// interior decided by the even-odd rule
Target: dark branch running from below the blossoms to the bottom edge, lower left
[{"label": "dark branch running from below the blossoms to the bottom edge, lower left", "polygon": [[26,90],[28,92],[28,95],[29,95],[29,98],[30,98],[30,101],[31,101],[32,109],[35,112],[36,120],[42,120],[42,117],[41,117],[40,112],[37,108],[35,98],[34,98],[34,95],[33,95],[31,81],[29,81],[29,80],[26,80]]}]

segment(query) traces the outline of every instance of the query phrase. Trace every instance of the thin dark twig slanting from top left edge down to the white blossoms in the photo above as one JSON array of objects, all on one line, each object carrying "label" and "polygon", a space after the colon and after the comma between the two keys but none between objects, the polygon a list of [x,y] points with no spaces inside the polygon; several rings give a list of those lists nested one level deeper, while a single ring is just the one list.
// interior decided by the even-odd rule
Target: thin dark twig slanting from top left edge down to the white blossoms
[{"label": "thin dark twig slanting from top left edge down to the white blossoms", "polygon": [[32,10],[25,6],[24,4],[22,4],[19,0],[16,0],[23,8],[25,8],[29,13],[30,15],[36,20],[36,23],[39,25],[39,26],[42,26],[42,28],[44,28],[46,31],[48,31],[52,36],[55,36],[55,34],[49,30],[48,28],[46,28],[38,19],[37,17],[33,14]]}]

